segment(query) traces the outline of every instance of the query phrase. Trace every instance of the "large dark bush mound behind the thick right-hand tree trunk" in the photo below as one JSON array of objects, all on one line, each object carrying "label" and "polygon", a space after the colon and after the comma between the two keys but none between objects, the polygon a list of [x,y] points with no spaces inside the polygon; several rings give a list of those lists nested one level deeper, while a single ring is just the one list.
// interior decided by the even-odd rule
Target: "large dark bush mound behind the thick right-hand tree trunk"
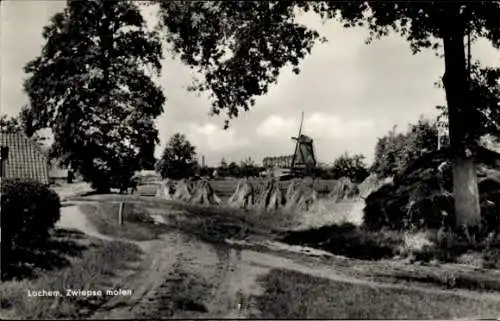
[{"label": "large dark bush mound behind the thick right-hand tree trunk", "polygon": [[[487,164],[486,156],[478,151],[478,165]],[[364,224],[372,230],[382,227],[404,230],[453,228],[452,191],[447,152],[443,149],[429,153],[397,175],[393,184],[383,186],[366,198]],[[481,179],[479,194],[483,224],[482,230],[477,232],[483,236],[498,233],[500,182],[488,177]]]}]

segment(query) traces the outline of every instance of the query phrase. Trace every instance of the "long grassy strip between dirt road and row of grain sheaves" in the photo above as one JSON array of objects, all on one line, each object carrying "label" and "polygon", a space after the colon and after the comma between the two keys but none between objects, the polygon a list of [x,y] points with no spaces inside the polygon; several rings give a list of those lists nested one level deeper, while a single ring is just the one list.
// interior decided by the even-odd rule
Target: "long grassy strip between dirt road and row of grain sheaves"
[{"label": "long grassy strip between dirt road and row of grain sheaves", "polygon": [[[96,229],[113,237],[137,241],[157,238],[171,228],[179,229],[210,243],[221,243],[226,238],[242,239],[250,233],[272,234],[294,225],[291,212],[260,211],[224,206],[198,206],[176,201],[137,196],[105,195],[95,204],[81,206]],[[123,226],[118,228],[118,204],[126,202]],[[165,224],[155,225],[152,214],[160,215]]]}]

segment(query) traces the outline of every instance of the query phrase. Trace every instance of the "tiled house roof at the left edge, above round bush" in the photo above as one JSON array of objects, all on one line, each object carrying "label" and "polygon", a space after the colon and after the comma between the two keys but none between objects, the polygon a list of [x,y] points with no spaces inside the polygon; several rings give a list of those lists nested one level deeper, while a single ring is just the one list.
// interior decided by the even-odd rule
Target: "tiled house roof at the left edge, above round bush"
[{"label": "tiled house roof at the left edge, above round bush", "polygon": [[1,133],[0,145],[9,148],[4,167],[5,178],[32,179],[43,184],[49,183],[48,159],[31,139],[22,133]]}]

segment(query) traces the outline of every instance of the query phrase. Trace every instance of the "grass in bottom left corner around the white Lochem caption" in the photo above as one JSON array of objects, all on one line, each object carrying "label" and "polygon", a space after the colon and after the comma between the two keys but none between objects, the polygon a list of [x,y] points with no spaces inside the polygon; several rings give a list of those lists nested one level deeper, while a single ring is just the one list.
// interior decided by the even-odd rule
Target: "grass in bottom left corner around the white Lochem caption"
[{"label": "grass in bottom left corner around the white Lochem caption", "polygon": [[[133,244],[95,241],[81,258],[68,267],[50,271],[32,280],[8,281],[0,286],[3,318],[14,319],[78,319],[87,317],[107,300],[96,297],[66,296],[66,289],[102,290],[126,288],[116,276],[139,261],[141,250]],[[28,290],[58,290],[58,297],[30,297]]]}]

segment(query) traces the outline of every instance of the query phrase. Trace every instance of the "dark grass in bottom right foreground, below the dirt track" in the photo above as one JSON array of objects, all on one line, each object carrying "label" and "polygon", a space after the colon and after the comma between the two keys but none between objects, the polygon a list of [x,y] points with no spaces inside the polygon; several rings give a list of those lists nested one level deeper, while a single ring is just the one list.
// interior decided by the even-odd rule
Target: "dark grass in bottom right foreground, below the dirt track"
[{"label": "dark grass in bottom right foreground, below the dirt track", "polygon": [[500,301],[480,301],[449,293],[388,289],[337,282],[288,270],[272,270],[260,280],[257,297],[264,319],[451,319],[497,318]]}]

